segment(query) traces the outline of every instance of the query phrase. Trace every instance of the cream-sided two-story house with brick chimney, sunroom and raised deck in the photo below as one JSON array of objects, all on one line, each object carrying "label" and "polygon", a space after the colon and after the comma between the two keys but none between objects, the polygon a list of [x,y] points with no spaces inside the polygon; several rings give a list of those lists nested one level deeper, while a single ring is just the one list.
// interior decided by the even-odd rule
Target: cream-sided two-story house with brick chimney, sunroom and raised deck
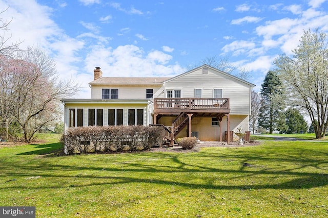
[{"label": "cream-sided two-story house with brick chimney, sunroom and raised deck", "polygon": [[229,142],[226,132],[247,131],[255,86],[208,65],[173,78],[103,77],[96,67],[89,85],[91,99],[61,100],[65,130],[162,125],[171,143],[185,136]]}]

